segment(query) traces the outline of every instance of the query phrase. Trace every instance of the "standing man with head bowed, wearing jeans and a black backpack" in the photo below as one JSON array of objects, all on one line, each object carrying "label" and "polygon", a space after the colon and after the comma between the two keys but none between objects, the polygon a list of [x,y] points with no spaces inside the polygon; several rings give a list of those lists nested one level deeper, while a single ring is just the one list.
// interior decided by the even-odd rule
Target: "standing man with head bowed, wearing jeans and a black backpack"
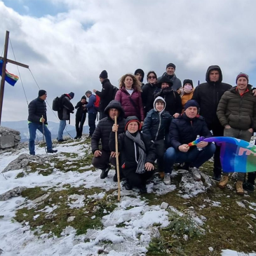
[{"label": "standing man with head bowed, wearing jeans and a black backpack", "polygon": [[70,123],[70,113],[74,113],[74,106],[70,102],[74,97],[74,93],[63,94],[61,96],[60,110],[58,110],[58,117],[60,119],[60,126],[58,130],[58,142],[64,142],[63,131],[66,127],[66,121],[69,120]]}]

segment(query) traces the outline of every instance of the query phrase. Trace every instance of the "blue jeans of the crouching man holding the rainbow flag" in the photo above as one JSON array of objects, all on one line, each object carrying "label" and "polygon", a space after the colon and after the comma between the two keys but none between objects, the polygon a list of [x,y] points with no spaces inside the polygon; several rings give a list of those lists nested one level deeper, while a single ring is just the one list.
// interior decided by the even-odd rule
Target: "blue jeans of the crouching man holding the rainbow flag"
[{"label": "blue jeans of the crouching man holding the rainbow flag", "polygon": [[190,163],[191,166],[199,168],[203,163],[208,161],[215,152],[215,144],[208,143],[202,150],[197,147],[189,149],[187,152],[176,151],[173,147],[169,147],[163,156],[164,172],[172,173],[174,163]]}]

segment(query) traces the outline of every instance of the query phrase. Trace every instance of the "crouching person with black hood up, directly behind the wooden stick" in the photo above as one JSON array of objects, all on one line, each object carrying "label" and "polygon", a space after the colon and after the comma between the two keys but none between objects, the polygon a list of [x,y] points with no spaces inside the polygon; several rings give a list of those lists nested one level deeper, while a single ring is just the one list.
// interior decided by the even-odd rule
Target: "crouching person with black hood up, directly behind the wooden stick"
[{"label": "crouching person with black hood up, directly behind the wooden stick", "polygon": [[[119,133],[124,132],[124,126],[126,119],[123,118],[124,112],[121,104],[117,100],[112,100],[105,108],[105,114],[107,117],[100,120],[91,138],[91,147],[93,151],[93,166],[101,169],[101,179],[105,179],[109,173],[109,162],[115,166],[116,159],[114,158],[116,152],[109,149],[109,135],[112,132],[112,126],[114,124],[114,116],[117,116],[117,124],[119,125]],[[101,140],[102,149],[100,149],[99,142]],[[117,175],[114,175],[114,181],[117,181]]]}]

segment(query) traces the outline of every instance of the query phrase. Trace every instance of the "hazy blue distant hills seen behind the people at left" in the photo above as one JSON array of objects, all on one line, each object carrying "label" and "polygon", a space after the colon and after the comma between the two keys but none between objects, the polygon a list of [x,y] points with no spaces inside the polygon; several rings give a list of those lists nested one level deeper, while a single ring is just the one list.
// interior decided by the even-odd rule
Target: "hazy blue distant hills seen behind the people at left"
[{"label": "hazy blue distant hills seen behind the people at left", "polygon": [[[14,130],[18,130],[20,132],[21,142],[27,142],[29,140],[29,128],[27,126],[27,120],[25,121],[2,121],[1,126],[12,128]],[[48,121],[48,129],[52,134],[52,139],[55,139],[58,136],[59,123],[55,123],[52,121]],[[66,130],[67,129],[67,130]],[[67,136],[68,133],[72,136],[76,136],[76,128],[74,126],[68,125],[64,130],[64,136]],[[83,133],[89,133],[89,126],[83,126]],[[37,131],[36,135],[38,140],[42,139],[42,134]]]}]

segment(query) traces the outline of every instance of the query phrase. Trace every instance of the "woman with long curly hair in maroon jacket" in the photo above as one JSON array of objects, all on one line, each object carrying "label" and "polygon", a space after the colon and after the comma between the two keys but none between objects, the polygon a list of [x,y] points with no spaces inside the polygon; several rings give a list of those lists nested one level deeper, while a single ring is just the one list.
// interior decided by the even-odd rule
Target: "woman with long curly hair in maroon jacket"
[{"label": "woman with long curly hair in maroon jacket", "polygon": [[118,100],[123,107],[125,117],[137,116],[140,123],[143,124],[144,112],[141,97],[140,82],[133,74],[125,74],[121,77],[119,90],[116,93],[115,100]]}]

